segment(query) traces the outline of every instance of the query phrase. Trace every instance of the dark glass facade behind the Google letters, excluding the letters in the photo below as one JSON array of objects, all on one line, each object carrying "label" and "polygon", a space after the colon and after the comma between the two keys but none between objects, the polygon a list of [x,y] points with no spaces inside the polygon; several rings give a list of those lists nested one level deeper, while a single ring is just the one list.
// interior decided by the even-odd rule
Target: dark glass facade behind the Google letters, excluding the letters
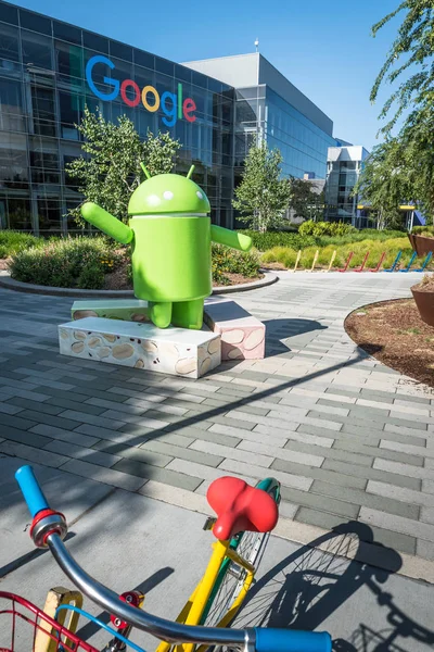
[{"label": "dark glass facade behind the Google letters, excluding the letters", "polygon": [[[92,59],[93,90],[86,74]],[[142,102],[127,105],[123,86],[107,99],[125,79],[140,90],[152,87],[149,110]],[[124,88],[130,104],[133,84]],[[180,101],[180,85],[181,98],[193,100],[194,122],[184,117],[192,116],[193,104],[183,104],[177,120],[168,117],[175,118],[170,97]],[[40,235],[77,230],[67,210],[82,197],[65,164],[81,155],[74,125],[85,105],[99,108],[110,121],[126,114],[143,138],[158,128],[179,138],[176,171],[186,173],[194,164],[193,178],[209,198],[213,221],[231,226],[233,98],[231,86],[199,72],[0,1],[0,228]]]}]

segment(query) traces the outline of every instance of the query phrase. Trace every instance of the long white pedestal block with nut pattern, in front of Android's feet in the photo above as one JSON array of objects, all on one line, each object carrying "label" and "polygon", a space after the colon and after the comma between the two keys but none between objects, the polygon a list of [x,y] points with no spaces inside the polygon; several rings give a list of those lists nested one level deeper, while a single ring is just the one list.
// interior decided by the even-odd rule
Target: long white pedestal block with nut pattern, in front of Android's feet
[{"label": "long white pedestal block with nut pattern, in front of Android's feet", "polygon": [[221,362],[220,336],[153,324],[85,317],[59,326],[63,355],[200,378]]}]

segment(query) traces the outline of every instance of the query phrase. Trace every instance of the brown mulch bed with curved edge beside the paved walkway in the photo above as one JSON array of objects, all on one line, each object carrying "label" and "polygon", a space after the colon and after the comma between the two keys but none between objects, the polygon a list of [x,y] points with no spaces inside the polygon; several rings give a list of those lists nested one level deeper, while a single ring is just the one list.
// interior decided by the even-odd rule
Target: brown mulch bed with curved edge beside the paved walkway
[{"label": "brown mulch bed with curved edge beside the paved walkway", "polygon": [[422,322],[413,299],[365,305],[348,315],[345,329],[376,360],[434,387],[434,327]]}]

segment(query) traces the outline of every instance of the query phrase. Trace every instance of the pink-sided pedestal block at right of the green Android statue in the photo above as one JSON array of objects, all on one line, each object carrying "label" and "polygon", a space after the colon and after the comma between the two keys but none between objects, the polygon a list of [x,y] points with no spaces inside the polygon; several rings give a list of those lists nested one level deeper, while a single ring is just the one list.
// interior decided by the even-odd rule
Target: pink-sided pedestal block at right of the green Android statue
[{"label": "pink-sided pedestal block at right of the green Android statue", "polygon": [[221,360],[265,356],[265,325],[234,301],[208,299],[204,322],[221,337]]}]

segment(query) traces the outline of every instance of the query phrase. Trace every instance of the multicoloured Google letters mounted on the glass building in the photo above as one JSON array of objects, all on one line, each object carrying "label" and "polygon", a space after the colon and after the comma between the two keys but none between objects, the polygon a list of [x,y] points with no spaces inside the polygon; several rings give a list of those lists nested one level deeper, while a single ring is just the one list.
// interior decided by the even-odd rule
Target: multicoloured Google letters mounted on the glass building
[{"label": "multicoloured Google letters mounted on the glass building", "polygon": [[[132,79],[124,79],[124,82],[120,83],[118,79],[103,77],[104,84],[111,86],[113,90],[110,92],[101,92],[101,90],[97,88],[92,78],[94,66],[101,63],[108,66],[112,71],[116,67],[110,59],[102,57],[101,54],[89,59],[86,65],[86,80],[90,90],[100,100],[111,102],[117,98],[120,91],[120,97],[127,106],[133,108],[142,102],[146,111],[150,111],[151,113],[155,113],[158,111],[158,109],[161,109],[164,113],[164,117],[162,120],[167,127],[173,127],[178,118],[182,120],[182,117],[184,117],[190,123],[193,123],[196,120],[196,116],[193,114],[196,110],[196,104],[191,98],[183,99],[182,84],[178,84],[177,93],[166,90],[159,97],[158,91],[153,86],[144,86],[142,89],[140,89]],[[133,91],[132,99],[127,96],[128,88],[132,89]]]}]

